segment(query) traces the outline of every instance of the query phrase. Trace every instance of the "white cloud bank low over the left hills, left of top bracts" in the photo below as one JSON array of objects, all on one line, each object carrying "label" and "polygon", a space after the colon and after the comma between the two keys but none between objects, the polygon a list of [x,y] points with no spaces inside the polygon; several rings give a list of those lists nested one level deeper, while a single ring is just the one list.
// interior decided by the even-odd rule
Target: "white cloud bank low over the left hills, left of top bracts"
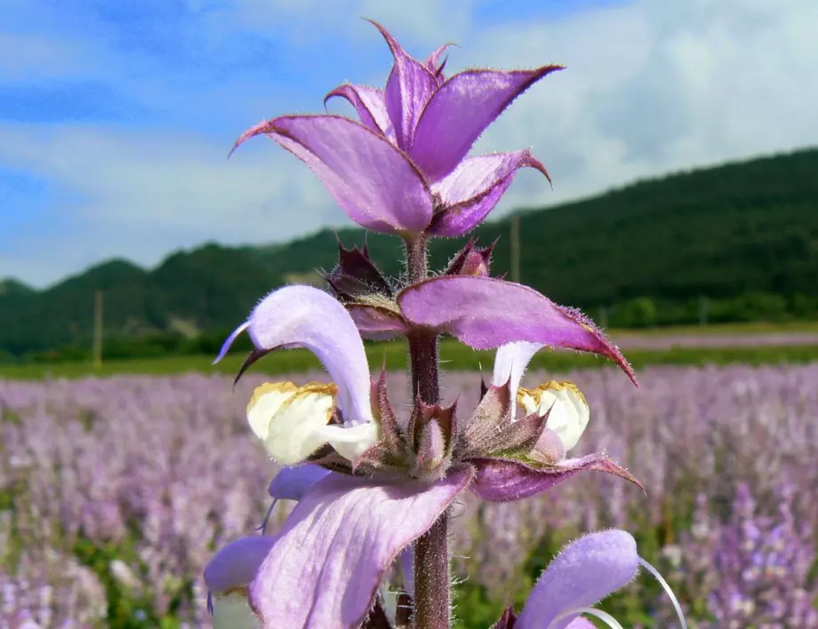
[{"label": "white cloud bank low over the left hills, left of top bracts", "polygon": [[27,254],[0,259],[0,277],[42,285],[60,269],[108,257],[153,265],[180,246],[270,243],[346,222],[293,155],[256,139],[228,160],[230,146],[95,126],[0,125],[0,165],[64,190],[60,211],[75,231],[63,240],[44,230]]}]

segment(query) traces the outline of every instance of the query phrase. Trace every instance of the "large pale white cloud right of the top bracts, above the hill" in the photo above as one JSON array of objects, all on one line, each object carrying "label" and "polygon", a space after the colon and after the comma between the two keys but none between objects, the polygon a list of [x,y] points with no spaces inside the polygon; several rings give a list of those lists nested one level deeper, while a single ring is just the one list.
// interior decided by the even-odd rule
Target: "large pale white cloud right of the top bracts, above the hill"
[{"label": "large pale white cloud right of the top bracts, above the hill", "polygon": [[632,179],[818,144],[818,3],[638,1],[509,24],[454,55],[467,65],[562,63],[480,140],[533,145],[551,193],[521,175],[503,207],[554,203]]}]

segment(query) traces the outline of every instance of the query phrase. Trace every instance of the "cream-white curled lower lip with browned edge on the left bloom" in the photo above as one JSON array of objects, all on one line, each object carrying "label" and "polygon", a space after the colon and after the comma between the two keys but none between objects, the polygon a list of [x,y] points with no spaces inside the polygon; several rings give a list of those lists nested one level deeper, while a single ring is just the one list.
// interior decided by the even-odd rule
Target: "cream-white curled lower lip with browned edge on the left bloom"
[{"label": "cream-white curled lower lip with browned edge on the left bloom", "polygon": [[278,382],[258,386],[247,405],[247,420],[269,455],[279,464],[293,466],[329,443],[342,457],[354,460],[380,438],[380,426],[330,424],[333,385],[295,386]]}]

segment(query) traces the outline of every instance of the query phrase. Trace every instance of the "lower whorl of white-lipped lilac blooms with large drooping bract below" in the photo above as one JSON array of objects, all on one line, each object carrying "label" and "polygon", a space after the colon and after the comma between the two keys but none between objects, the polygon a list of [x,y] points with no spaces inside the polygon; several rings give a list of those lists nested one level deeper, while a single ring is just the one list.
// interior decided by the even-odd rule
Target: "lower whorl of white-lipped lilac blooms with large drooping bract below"
[{"label": "lower whorl of white-lipped lilac blooms with large drooping bract below", "polygon": [[[244,330],[256,346],[248,362],[293,346],[308,347],[324,362],[333,385],[261,385],[247,417],[279,463],[318,464],[333,474],[319,478],[314,467],[293,468],[273,482],[274,498],[300,502],[276,536],[237,542],[213,560],[208,585],[217,608],[227,601],[230,609],[253,609],[264,626],[357,626],[398,555],[461,492],[516,500],[590,470],[637,482],[605,455],[565,458],[588,418],[575,387],[521,393],[520,407],[532,412],[515,416],[519,379],[539,346],[501,348],[495,379],[503,383],[489,387],[471,417],[459,422],[454,406],[420,399],[409,417],[399,417],[384,374],[370,379],[355,323],[324,291],[287,286],[270,293],[220,357]],[[550,402],[540,399],[546,394]],[[548,426],[551,414],[559,418],[555,430]],[[562,443],[556,454],[543,445],[555,440]],[[259,553],[248,553],[251,547]],[[233,593],[245,597],[245,607],[229,599]]]}]

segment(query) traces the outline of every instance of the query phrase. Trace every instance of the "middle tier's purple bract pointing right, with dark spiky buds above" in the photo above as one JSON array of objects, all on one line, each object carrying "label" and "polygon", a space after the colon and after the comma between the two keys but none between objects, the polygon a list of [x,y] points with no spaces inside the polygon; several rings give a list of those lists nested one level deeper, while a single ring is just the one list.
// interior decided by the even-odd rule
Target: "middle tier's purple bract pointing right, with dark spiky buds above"
[{"label": "middle tier's purple bract pointing right, with dark spiky buds above", "polygon": [[538,348],[603,355],[620,365],[636,384],[622,352],[588,317],[523,284],[488,277],[491,247],[479,250],[468,243],[445,275],[399,292],[381,275],[366,249],[347,251],[341,245],[340,252],[338,266],[325,277],[365,338],[382,340],[432,331],[451,334],[475,349],[529,341]]}]

